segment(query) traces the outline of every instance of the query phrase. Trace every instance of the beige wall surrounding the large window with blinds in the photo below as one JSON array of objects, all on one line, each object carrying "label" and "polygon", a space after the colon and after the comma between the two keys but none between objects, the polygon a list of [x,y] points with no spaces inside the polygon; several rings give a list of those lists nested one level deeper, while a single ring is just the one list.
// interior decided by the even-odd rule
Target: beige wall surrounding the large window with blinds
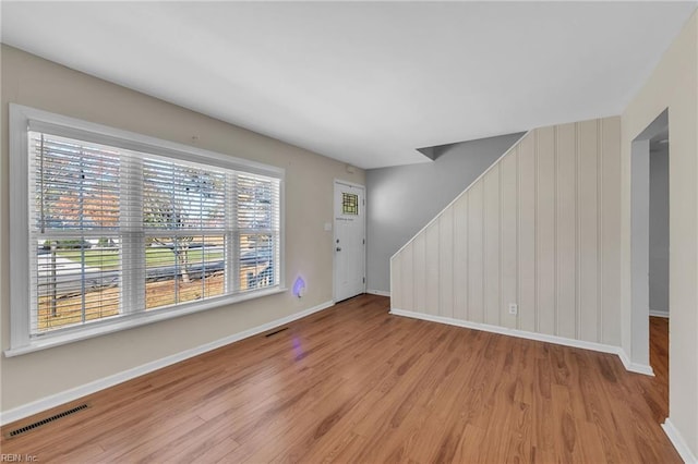
[{"label": "beige wall surrounding the large window with blinds", "polygon": [[[182,89],[185,91],[185,89]],[[225,98],[225,96],[221,96]],[[0,357],[1,411],[135,368],[242,330],[328,302],[333,297],[333,180],[364,184],[364,172],[269,137],[204,117],[2,46],[0,163],[0,315],[9,347],[8,103],[15,102],[230,154],[286,169],[286,283],[302,273],[308,293],[290,292],[183,316],[32,354]],[[230,101],[229,105],[234,105]]]}]

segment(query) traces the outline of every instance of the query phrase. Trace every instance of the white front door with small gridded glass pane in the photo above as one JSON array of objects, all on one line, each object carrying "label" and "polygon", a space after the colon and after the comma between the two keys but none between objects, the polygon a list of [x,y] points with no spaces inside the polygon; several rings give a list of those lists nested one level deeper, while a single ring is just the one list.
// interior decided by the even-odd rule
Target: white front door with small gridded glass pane
[{"label": "white front door with small gridded glass pane", "polygon": [[365,291],[365,193],[335,181],[335,301]]}]

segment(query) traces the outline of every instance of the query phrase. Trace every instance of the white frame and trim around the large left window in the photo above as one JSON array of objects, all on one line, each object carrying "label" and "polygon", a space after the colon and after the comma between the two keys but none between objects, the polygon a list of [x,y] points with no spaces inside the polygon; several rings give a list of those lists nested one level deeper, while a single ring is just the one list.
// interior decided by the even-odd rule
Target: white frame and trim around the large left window
[{"label": "white frame and trim around the large left window", "polygon": [[[5,356],[31,353],[51,346],[112,333],[160,320],[240,303],[287,291],[285,279],[285,175],[286,170],[243,158],[209,151],[174,142],[151,137],[61,114],[10,103],[10,347]],[[29,243],[29,152],[28,131],[83,139],[123,149],[144,151],[173,161],[194,161],[279,180],[279,262],[278,284],[254,291],[181,303],[167,310],[143,310],[88,325],[64,328],[55,333],[31,335],[32,279]],[[36,244],[34,244],[36,247]]]}]

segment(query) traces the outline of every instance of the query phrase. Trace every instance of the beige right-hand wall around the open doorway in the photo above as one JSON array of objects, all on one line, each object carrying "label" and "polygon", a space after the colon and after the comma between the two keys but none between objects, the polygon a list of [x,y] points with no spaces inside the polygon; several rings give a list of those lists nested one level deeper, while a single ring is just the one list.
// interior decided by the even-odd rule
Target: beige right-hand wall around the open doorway
[{"label": "beige right-hand wall around the open doorway", "polygon": [[[623,347],[630,352],[630,145],[669,108],[670,422],[698,456],[698,13],[622,115]],[[638,341],[635,341],[638,343]]]}]

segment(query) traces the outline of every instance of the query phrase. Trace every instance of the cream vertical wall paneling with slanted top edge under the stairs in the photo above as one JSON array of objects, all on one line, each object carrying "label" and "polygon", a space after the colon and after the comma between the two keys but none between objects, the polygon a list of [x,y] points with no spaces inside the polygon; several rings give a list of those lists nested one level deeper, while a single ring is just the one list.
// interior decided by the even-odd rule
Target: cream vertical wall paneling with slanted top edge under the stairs
[{"label": "cream vertical wall paneling with slanted top edge under the stairs", "polygon": [[393,307],[619,345],[619,137],[530,132],[393,257]]}]

